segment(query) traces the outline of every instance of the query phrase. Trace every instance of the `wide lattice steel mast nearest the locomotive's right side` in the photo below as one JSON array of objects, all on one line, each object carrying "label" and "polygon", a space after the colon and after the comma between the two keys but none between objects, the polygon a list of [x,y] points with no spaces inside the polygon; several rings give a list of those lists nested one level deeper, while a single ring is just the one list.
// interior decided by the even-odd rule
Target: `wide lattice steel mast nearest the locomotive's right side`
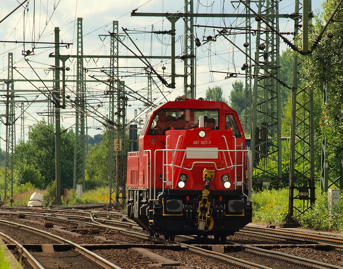
[{"label": "wide lattice steel mast nearest the locomotive's right side", "polygon": [[[279,14],[279,1],[260,0],[258,13]],[[279,17],[264,17],[279,32]],[[257,29],[266,30],[258,20]],[[268,30],[268,29],[267,29]],[[262,42],[261,42],[262,41]],[[280,83],[280,37],[274,32],[257,32],[255,82],[253,90],[251,150],[254,159],[253,178],[282,179],[281,156],[281,95]],[[272,73],[275,78],[267,73]],[[273,163],[268,167],[267,163]],[[276,173],[274,171],[277,171]]]}]

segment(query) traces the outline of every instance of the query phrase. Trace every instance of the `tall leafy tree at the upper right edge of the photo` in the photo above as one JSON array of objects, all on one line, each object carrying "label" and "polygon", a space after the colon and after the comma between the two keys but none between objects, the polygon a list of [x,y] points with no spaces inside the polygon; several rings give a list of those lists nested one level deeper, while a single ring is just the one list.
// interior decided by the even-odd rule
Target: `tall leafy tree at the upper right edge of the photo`
[{"label": "tall leafy tree at the upper right edge of the photo", "polygon": [[[312,26],[309,40],[315,40],[337,7],[338,0],[322,3],[323,12]],[[333,19],[343,17],[341,5]],[[328,34],[332,33],[333,37]],[[331,22],[321,41],[310,57],[303,63],[303,78],[314,93],[314,128],[317,150],[320,152],[322,131],[327,134],[327,153],[343,154],[343,22]],[[327,85],[327,102],[323,103],[323,88]],[[316,151],[317,151],[316,150]],[[319,161],[320,163],[320,161]]]}]

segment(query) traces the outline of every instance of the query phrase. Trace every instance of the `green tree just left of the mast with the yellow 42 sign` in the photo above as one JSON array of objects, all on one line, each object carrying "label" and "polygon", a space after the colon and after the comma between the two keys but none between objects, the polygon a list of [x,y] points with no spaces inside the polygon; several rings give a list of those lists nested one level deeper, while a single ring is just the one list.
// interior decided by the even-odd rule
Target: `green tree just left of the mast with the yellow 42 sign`
[{"label": "green tree just left of the mast with the yellow 42 sign", "polygon": [[108,184],[108,132],[103,140],[88,152],[86,160],[86,189]]}]

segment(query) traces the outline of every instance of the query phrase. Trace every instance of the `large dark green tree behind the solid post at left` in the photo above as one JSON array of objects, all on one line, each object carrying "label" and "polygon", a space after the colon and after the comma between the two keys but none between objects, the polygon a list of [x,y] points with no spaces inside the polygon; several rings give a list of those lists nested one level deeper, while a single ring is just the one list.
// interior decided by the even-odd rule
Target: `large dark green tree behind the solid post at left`
[{"label": "large dark green tree behind the solid post at left", "polygon": [[[74,173],[74,141],[72,130],[61,133],[61,185],[62,188],[73,186]],[[33,125],[28,132],[28,140],[14,149],[14,165],[19,182],[25,181],[25,173],[41,175],[45,178],[45,188],[55,180],[55,133],[54,127],[41,121]],[[23,171],[22,166],[27,165]],[[33,170],[34,169],[34,170]],[[36,171],[36,172],[35,172]],[[34,182],[31,182],[35,184]],[[38,187],[38,186],[36,186]]]}]

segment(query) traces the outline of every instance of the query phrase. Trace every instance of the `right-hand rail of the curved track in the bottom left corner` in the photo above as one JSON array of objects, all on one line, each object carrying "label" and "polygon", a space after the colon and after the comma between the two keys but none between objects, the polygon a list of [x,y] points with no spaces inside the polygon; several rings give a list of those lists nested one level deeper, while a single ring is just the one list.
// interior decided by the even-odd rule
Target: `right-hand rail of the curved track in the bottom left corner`
[{"label": "right-hand rail of the curved track in the bottom left corner", "polygon": [[120,267],[116,266],[115,264],[109,262],[108,260],[98,256],[97,254],[87,250],[86,248],[72,242],[72,241],[69,241],[67,239],[64,239],[62,237],[59,237],[59,236],[56,236],[54,234],[51,234],[51,233],[48,233],[48,232],[45,232],[45,231],[42,231],[42,230],[38,230],[36,228],[32,228],[32,227],[29,227],[29,226],[26,226],[26,225],[22,225],[22,224],[17,224],[17,223],[13,223],[13,222],[10,222],[10,221],[7,221],[7,220],[1,220],[0,219],[0,223],[5,223],[7,225],[10,225],[10,226],[19,226],[25,230],[29,230],[31,232],[34,232],[34,233],[37,233],[37,234],[40,234],[40,235],[44,235],[48,238],[51,238],[51,239],[54,239],[58,242],[62,242],[64,244],[70,244],[72,245],[74,248],[75,248],[75,251],[81,253],[83,256],[93,260],[95,263],[97,263],[98,265],[100,266],[103,266],[104,268],[106,269],[121,269]]}]

